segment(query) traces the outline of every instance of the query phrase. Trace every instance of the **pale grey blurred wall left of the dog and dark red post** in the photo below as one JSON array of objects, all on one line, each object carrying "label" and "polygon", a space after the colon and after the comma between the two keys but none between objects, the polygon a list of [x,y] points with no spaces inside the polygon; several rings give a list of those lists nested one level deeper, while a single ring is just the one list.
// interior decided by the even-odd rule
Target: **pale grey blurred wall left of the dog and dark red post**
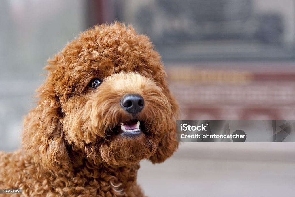
[{"label": "pale grey blurred wall left of the dog and dark red post", "polygon": [[66,1],[1,1],[0,150],[20,144],[22,118],[35,105],[46,60],[86,29],[84,4]]}]

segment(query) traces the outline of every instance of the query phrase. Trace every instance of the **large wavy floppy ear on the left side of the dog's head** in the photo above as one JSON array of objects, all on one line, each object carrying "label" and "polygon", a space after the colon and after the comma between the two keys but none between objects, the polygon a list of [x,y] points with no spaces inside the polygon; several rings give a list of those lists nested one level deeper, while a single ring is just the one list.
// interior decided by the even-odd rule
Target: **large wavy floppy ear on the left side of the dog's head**
[{"label": "large wavy floppy ear on the left side of the dog's head", "polygon": [[37,89],[39,101],[24,120],[22,143],[26,154],[50,170],[70,167],[67,146],[64,141],[59,97],[55,93],[49,75]]}]

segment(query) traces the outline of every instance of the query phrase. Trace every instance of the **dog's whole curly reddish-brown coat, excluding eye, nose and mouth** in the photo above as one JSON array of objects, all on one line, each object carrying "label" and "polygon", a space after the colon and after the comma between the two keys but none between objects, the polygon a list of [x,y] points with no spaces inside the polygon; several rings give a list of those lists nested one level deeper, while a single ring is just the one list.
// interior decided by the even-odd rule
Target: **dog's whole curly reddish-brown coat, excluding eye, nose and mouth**
[{"label": "dog's whole curly reddish-brown coat, excluding eye, nose and mouth", "polygon": [[[45,69],[37,106],[25,117],[23,147],[0,152],[0,188],[22,188],[23,196],[143,196],[139,161],[163,162],[178,147],[178,106],[150,40],[118,22],[95,26]],[[88,86],[94,78],[102,81],[97,88]],[[120,106],[128,93],[145,100],[136,116]],[[114,132],[132,119],[145,131]]]}]

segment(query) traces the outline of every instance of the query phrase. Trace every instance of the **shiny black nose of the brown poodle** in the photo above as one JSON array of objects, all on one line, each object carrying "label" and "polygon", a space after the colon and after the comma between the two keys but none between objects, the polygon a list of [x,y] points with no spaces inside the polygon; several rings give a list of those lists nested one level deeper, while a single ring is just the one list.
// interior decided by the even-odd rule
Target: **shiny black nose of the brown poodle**
[{"label": "shiny black nose of the brown poodle", "polygon": [[121,105],[128,113],[136,114],[143,109],[145,100],[139,94],[128,94],[122,97]]}]

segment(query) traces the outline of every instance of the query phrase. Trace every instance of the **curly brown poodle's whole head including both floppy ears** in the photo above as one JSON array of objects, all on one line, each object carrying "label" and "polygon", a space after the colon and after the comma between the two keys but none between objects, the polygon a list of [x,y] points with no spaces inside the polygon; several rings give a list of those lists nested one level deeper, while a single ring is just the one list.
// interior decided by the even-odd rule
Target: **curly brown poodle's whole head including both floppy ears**
[{"label": "curly brown poodle's whole head including both floppy ears", "polygon": [[95,163],[163,162],[176,150],[178,106],[160,55],[131,27],[95,26],[49,60],[24,149],[50,169],[71,167],[69,149]]}]

